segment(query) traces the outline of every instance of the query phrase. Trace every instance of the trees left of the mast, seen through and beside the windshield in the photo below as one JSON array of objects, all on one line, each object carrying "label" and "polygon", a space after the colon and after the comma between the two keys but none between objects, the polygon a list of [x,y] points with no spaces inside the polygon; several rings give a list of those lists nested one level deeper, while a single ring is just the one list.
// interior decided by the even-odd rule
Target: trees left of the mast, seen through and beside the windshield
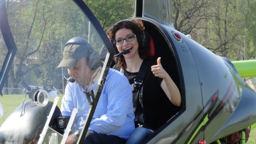
[{"label": "trees left of the mast, seen through and beside the windshield", "polygon": [[[114,22],[133,16],[133,0],[86,2],[105,30]],[[94,28],[90,28],[86,16],[70,0],[14,0],[8,1],[7,7],[18,48],[9,73],[10,87],[17,88],[28,74],[29,84],[54,86],[58,81],[56,67],[62,59],[61,50],[70,38],[80,36],[93,41],[91,45],[98,51],[102,47],[101,39]],[[29,65],[25,66],[26,63]]]}]

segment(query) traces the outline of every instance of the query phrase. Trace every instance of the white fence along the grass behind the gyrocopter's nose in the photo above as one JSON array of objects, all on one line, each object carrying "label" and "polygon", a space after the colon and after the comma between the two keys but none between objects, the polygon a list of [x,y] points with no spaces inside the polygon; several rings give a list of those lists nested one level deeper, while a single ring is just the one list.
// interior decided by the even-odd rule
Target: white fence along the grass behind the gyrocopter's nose
[{"label": "white fence along the grass behind the gyrocopter's nose", "polygon": [[[3,88],[2,94],[26,94],[27,90],[24,88]],[[57,90],[57,94],[64,94],[63,90]]]}]

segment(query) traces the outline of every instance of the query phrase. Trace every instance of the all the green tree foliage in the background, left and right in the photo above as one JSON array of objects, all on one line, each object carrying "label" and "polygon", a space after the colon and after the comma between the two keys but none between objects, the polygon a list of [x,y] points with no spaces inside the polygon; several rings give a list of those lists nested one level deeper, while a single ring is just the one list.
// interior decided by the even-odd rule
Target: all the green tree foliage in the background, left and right
[{"label": "all the green tree foliage in the background, left and right", "polygon": [[[17,87],[26,75],[31,84],[53,86],[60,71],[64,44],[81,36],[100,50],[102,42],[80,9],[70,0],[7,1],[8,20],[15,38],[16,76],[9,73],[9,87]],[[134,0],[85,0],[106,31],[112,24],[134,16]],[[255,2],[253,0],[173,0],[176,30],[212,52],[230,60],[242,60],[246,35],[246,59],[255,55]],[[89,38],[90,37],[90,38]],[[0,39],[2,40],[2,39]],[[0,63],[6,55],[0,44]],[[29,61],[29,66],[25,63]]]}]

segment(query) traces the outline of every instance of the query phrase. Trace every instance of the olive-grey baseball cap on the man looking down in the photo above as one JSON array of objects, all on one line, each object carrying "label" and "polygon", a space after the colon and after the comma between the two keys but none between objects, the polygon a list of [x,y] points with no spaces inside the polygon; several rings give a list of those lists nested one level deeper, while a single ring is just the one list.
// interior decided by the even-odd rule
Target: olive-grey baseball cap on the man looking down
[{"label": "olive-grey baseball cap on the man looking down", "polygon": [[91,50],[93,50],[92,47],[84,38],[71,38],[66,43],[63,59],[57,68],[74,66],[82,57],[87,57]]}]

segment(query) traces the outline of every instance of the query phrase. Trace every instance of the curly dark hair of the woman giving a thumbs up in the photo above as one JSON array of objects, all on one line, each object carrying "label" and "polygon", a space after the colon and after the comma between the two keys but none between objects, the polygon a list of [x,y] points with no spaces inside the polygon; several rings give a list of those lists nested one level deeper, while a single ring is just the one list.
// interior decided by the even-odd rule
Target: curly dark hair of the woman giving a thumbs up
[{"label": "curly dark hair of the woman giving a thumbs up", "polygon": [[[146,58],[149,58],[149,54],[148,54],[148,51],[149,51],[149,48],[148,46],[146,47],[142,47],[142,38],[141,38],[141,35],[142,33],[144,32],[145,30],[145,27],[144,27],[144,24],[142,22],[142,20],[121,20],[120,22],[117,22],[116,24],[114,24],[112,27],[110,27],[107,31],[107,35],[108,35],[108,38],[110,40],[115,40],[115,35],[116,35],[116,32],[122,28],[126,28],[126,29],[130,29],[132,30],[132,32],[134,34],[137,35],[137,38],[138,38],[138,44],[139,44],[139,48],[138,48],[138,51],[139,51],[139,56],[142,60],[146,59]],[[147,39],[148,36],[147,36]],[[117,66],[120,67],[120,68],[123,68],[125,69],[126,68],[126,62],[124,60],[124,56],[118,56],[118,63],[117,63]]]}]

